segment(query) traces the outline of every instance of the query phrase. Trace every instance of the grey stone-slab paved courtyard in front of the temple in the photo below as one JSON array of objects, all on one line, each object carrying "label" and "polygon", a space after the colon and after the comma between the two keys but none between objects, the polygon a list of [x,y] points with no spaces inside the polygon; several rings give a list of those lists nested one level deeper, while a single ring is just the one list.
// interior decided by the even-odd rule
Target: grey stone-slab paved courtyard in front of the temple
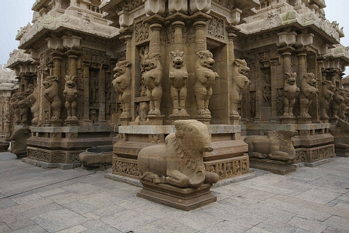
[{"label": "grey stone-slab paved courtyard in front of the temple", "polygon": [[349,158],[212,188],[179,211],[101,171],[41,169],[0,153],[0,232],[349,232]]}]

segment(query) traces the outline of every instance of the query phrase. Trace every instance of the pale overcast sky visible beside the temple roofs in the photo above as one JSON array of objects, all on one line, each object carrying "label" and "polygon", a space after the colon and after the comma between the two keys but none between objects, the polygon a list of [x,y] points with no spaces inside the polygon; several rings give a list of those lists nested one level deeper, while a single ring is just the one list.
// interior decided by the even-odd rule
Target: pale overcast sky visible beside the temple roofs
[{"label": "pale overcast sky visible beside the temple roofs", "polygon": [[[9,53],[18,46],[15,41],[17,30],[31,22],[33,13],[31,6],[35,0],[1,0],[0,8],[0,64],[7,64]],[[346,37],[341,38],[341,43],[349,45],[349,17],[346,20],[346,13],[349,14],[348,0],[327,0],[325,8],[326,17],[329,21],[336,20],[339,27],[344,27]],[[349,74],[347,67],[346,75]]]}]

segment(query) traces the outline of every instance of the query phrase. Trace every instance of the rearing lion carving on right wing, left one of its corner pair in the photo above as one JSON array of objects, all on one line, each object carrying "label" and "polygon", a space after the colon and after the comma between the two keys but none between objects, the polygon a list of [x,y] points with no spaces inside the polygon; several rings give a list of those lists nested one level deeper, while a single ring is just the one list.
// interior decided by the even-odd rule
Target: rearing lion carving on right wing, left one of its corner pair
[{"label": "rearing lion carving on right wing, left one of its corner pair", "polygon": [[296,84],[297,73],[284,73],[285,82],[283,84],[283,116],[293,116],[293,106],[295,106],[297,92],[300,91]]}]

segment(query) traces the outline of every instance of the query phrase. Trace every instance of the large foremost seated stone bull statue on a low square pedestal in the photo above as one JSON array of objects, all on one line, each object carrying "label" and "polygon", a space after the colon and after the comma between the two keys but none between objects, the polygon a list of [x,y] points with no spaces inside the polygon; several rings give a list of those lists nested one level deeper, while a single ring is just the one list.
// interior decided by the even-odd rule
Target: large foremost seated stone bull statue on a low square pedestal
[{"label": "large foremost seated stone bull statue on a low square pedestal", "polygon": [[149,146],[138,154],[141,181],[167,183],[179,188],[197,188],[216,183],[218,175],[205,171],[203,154],[212,151],[207,126],[198,120],[176,120],[177,132],[165,144]]}]

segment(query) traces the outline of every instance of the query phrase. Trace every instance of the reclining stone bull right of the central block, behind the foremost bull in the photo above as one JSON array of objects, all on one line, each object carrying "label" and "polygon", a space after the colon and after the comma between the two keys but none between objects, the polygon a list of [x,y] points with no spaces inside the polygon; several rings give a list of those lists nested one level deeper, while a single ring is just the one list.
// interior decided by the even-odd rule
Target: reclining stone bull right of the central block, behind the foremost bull
[{"label": "reclining stone bull right of the central block, behind the foremost bull", "polygon": [[264,136],[246,136],[244,141],[248,144],[248,156],[271,160],[295,160],[296,151],[292,144],[292,136],[297,131],[279,130],[265,131]]}]

